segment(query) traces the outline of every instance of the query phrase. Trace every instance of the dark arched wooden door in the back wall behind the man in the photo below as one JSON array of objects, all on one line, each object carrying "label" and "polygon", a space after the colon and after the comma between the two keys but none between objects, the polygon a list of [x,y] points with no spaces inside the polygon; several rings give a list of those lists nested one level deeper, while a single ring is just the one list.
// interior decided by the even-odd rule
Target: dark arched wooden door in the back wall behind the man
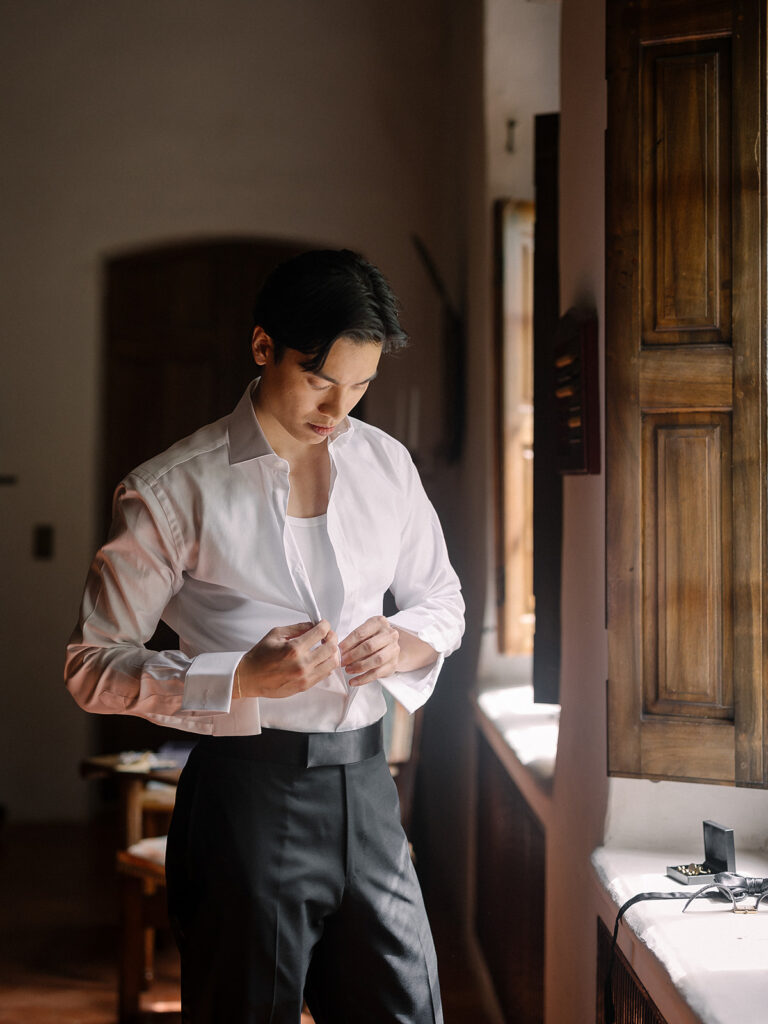
[{"label": "dark arched wooden door in the back wall behind the man", "polygon": [[[307,245],[193,243],[120,256],[104,281],[101,524],[131,469],[230,412],[256,376],[251,310],[266,274]],[[150,646],[176,645],[162,623]],[[142,719],[99,719],[99,749],[157,746],[179,738]]]}]

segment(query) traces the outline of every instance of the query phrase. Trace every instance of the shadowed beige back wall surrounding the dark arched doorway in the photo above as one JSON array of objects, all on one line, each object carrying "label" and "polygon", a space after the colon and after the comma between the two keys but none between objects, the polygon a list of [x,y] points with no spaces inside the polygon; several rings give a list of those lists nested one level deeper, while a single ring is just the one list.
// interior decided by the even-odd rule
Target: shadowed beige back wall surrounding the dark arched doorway
[{"label": "shadowed beige back wall surrounding the dark arched doorway", "polygon": [[[437,442],[439,308],[417,231],[458,278],[443,126],[441,0],[0,2],[0,803],[85,813],[91,720],[61,684],[95,543],[100,272],[168,241],[348,245],[388,274],[415,339],[372,418],[395,428],[398,379],[424,382]],[[247,343],[247,339],[244,339]],[[388,376],[387,376],[388,375]],[[439,467],[433,474],[439,485]],[[34,523],[55,555],[31,555]]]}]

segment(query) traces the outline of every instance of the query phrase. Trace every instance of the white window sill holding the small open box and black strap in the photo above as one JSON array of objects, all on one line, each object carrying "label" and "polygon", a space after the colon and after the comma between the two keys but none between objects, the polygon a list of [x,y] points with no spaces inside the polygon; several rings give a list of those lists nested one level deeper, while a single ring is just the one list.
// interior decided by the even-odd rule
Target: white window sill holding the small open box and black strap
[{"label": "white window sill holding the small open box and black strap", "polygon": [[[592,864],[609,897],[601,915],[611,932],[616,910],[636,893],[682,891],[666,869],[688,860],[690,851],[598,847]],[[736,867],[741,874],[766,877],[768,856],[738,851]],[[764,1024],[768,907],[741,914],[702,901],[683,914],[683,905],[678,900],[637,903],[620,928],[620,945],[658,1009],[681,1024]]]}]

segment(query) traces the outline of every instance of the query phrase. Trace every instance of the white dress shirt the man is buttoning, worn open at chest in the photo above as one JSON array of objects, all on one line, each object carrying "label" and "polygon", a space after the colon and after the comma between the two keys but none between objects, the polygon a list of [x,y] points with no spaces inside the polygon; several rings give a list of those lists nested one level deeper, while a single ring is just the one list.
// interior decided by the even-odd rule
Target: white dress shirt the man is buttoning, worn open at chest
[{"label": "white dress shirt the man is buttoning, worn open at chest", "polygon": [[[118,486],[108,543],[86,582],[65,677],[87,711],[214,735],[263,727],[355,729],[384,714],[382,685],[409,711],[428,698],[464,630],[459,580],[408,451],[347,418],[328,440],[327,528],[343,587],[343,639],[382,613],[438,653],[425,669],[350,687],[343,669],[289,697],[232,700],[243,654],[275,626],[321,617],[286,528],[289,464],[256,419],[251,384],[233,412],[139,466]],[[163,618],[179,650],[144,647]]]}]

